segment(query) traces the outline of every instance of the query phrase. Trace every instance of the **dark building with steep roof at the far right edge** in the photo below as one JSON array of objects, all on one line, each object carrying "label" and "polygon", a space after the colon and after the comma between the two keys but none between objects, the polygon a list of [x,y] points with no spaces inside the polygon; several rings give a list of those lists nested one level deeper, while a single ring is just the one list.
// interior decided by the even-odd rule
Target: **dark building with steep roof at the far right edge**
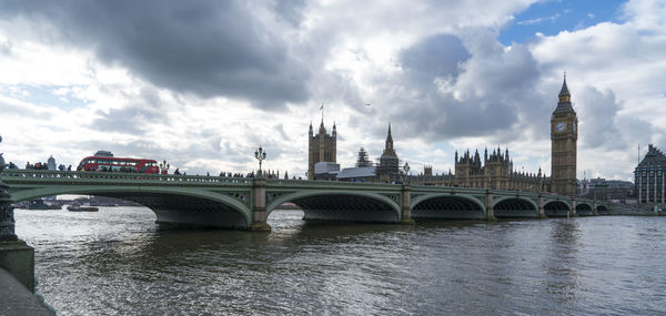
[{"label": "dark building with steep roof at the far right edge", "polygon": [[666,173],[666,156],[649,144],[647,154],[634,170],[638,203],[666,203],[664,173]]}]

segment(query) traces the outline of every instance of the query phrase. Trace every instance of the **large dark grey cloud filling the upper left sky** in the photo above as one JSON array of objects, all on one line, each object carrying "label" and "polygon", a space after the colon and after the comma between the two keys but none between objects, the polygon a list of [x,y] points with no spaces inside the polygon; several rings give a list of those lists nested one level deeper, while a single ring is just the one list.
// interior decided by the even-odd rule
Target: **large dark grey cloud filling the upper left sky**
[{"label": "large dark grey cloud filling the upper left sky", "polygon": [[[297,24],[300,4],[275,10]],[[47,20],[60,40],[94,48],[102,61],[174,91],[264,109],[307,98],[310,69],[243,1],[6,1],[0,11]]]}]

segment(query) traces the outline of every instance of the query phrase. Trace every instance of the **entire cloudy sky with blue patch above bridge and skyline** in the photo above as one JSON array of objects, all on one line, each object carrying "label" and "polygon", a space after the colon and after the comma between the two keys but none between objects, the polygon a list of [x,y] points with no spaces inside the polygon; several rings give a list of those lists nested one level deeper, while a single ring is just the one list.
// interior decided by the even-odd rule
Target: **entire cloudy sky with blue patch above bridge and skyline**
[{"label": "entire cloudy sky with blue patch above bridge and skyline", "polygon": [[0,153],[218,174],[262,145],[304,176],[323,115],[342,167],[377,161],[391,123],[412,173],[501,146],[549,175],[565,71],[579,179],[632,180],[639,149],[666,150],[664,1],[2,0]]}]

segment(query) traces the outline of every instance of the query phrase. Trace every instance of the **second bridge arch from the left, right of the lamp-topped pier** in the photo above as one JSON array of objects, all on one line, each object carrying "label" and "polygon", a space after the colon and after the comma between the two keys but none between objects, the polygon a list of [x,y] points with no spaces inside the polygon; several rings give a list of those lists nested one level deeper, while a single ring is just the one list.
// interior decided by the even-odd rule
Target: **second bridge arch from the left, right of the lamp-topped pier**
[{"label": "second bridge arch from the left, right of the lamp-topped pier", "polygon": [[301,207],[305,213],[305,221],[396,223],[402,220],[400,194],[383,195],[357,190],[303,190],[278,194],[266,201],[266,214],[270,215],[285,202]]}]

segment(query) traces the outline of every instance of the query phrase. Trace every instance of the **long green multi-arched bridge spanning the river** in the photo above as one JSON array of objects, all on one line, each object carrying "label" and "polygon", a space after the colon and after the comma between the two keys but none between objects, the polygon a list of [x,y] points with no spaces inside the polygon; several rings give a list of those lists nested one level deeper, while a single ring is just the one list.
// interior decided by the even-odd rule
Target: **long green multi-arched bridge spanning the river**
[{"label": "long green multi-arched bridge spanning the river", "polygon": [[291,202],[306,221],[413,223],[592,216],[609,205],[571,196],[486,188],[141,173],[4,170],[13,202],[60,194],[117,197],[152,210],[159,223],[270,231]]}]

